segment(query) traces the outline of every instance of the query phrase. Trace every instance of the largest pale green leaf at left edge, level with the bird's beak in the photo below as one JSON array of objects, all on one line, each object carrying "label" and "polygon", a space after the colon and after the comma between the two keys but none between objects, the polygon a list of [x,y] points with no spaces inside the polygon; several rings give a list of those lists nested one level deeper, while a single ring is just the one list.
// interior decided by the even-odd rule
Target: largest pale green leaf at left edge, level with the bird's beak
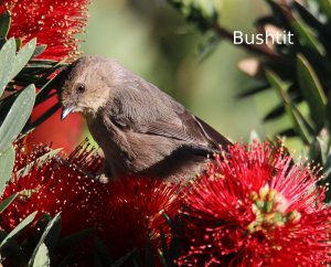
[{"label": "largest pale green leaf at left edge, level with the bird's beak", "polygon": [[8,149],[26,124],[35,99],[34,85],[22,90],[0,127],[0,152]]}]

